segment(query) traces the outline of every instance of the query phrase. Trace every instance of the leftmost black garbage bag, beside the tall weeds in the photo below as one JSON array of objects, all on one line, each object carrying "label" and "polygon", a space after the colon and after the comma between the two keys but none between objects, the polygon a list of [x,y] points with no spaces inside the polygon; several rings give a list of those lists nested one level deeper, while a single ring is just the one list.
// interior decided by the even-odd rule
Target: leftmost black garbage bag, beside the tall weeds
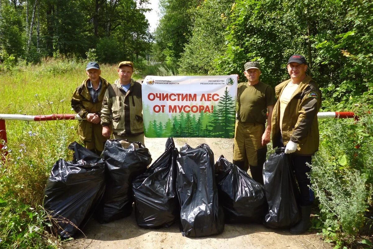
[{"label": "leftmost black garbage bag, beside the tall weeds", "polygon": [[103,159],[77,142],[68,148],[75,152],[73,161],[60,159],[53,165],[43,204],[62,239],[73,237],[85,226],[105,189]]}]

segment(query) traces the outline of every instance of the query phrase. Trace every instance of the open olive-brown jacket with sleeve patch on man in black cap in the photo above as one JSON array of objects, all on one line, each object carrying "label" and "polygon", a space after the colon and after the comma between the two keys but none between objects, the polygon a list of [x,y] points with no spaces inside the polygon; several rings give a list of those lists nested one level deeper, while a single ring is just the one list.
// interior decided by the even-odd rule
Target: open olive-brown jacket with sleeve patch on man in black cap
[{"label": "open olive-brown jacket with sleeve patch on man in black cap", "polygon": [[282,134],[280,131],[280,96],[290,82],[286,80],[275,87],[277,102],[272,114],[272,143],[273,147],[288,141],[297,143],[295,154],[313,155],[319,149],[319,125],[317,112],[321,106],[321,92],[316,82],[309,76],[299,84],[289,103],[286,105],[282,118]]}]

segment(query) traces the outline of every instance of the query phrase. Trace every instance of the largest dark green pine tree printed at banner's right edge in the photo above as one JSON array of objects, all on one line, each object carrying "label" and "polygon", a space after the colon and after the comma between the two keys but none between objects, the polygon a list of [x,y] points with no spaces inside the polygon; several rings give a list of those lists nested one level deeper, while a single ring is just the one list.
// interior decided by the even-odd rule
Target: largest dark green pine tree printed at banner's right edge
[{"label": "largest dark green pine tree printed at banner's right edge", "polygon": [[233,137],[235,115],[234,99],[229,95],[228,87],[226,87],[224,95],[220,96],[217,106],[214,106],[209,125],[212,127],[211,133],[214,134],[214,137]]}]

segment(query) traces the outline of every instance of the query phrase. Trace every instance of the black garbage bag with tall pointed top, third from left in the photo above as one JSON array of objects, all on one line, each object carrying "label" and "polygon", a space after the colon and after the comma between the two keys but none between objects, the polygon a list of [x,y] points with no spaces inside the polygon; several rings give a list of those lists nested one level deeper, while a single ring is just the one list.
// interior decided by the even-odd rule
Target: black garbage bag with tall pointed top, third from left
[{"label": "black garbage bag with tall pointed top, third from left", "polygon": [[136,222],[143,228],[169,227],[179,216],[176,194],[176,158],[178,149],[172,138],[164,153],[132,182]]}]

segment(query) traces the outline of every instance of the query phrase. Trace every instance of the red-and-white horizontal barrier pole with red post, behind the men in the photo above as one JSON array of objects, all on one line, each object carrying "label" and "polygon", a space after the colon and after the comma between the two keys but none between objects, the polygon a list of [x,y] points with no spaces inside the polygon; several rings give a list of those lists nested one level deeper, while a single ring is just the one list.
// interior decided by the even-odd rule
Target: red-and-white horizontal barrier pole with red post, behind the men
[{"label": "red-and-white horizontal barrier pole with red post, behind the men", "polygon": [[[353,112],[319,112],[317,118],[357,118]],[[83,120],[78,114],[51,114],[51,115],[19,115],[19,114],[0,114],[0,156],[5,159],[7,151],[3,151],[7,143],[5,120],[23,120],[23,121],[52,121],[52,120]],[[1,141],[4,141],[1,142]]]}]

